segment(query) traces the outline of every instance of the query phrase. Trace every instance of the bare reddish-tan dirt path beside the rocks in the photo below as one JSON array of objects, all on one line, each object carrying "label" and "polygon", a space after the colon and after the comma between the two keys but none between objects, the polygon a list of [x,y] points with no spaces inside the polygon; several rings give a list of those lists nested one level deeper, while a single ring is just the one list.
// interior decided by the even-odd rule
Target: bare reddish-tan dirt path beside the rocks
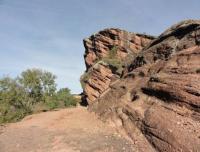
[{"label": "bare reddish-tan dirt path beside the rocks", "polygon": [[135,150],[83,107],[34,114],[0,129],[0,152],[123,151]]}]

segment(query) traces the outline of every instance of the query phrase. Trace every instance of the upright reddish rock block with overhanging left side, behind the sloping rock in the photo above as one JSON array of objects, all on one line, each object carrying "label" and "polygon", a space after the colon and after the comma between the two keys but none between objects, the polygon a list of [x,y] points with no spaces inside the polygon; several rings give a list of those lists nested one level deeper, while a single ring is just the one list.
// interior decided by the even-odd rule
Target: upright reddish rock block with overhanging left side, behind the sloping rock
[{"label": "upright reddish rock block with overhanging left side, behind the sloping rock", "polygon": [[86,72],[81,82],[86,102],[90,104],[99,98],[152,39],[152,36],[114,28],[84,39]]}]

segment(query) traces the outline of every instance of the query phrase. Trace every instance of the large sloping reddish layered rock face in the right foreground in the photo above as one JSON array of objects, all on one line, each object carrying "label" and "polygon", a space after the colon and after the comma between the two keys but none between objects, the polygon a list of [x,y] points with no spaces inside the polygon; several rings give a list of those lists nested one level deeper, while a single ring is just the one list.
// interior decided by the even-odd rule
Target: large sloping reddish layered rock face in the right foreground
[{"label": "large sloping reddish layered rock face in the right foreground", "polygon": [[172,26],[137,53],[89,109],[139,151],[200,151],[200,21]]}]

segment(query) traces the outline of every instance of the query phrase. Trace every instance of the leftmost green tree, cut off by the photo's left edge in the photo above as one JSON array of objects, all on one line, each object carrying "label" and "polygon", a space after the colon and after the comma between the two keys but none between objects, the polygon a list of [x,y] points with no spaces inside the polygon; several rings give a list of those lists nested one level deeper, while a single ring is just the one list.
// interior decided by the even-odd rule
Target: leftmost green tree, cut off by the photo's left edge
[{"label": "leftmost green tree, cut off by the photo's left edge", "polygon": [[28,96],[15,79],[0,80],[0,123],[17,121],[30,113]]}]

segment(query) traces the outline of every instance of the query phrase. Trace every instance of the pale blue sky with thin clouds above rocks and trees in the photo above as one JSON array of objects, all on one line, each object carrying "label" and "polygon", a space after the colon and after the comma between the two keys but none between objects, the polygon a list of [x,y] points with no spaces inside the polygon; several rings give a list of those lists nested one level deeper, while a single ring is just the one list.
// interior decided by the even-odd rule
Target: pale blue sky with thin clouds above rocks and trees
[{"label": "pale blue sky with thin clouds above rocks and trees", "polygon": [[107,27],[159,35],[200,19],[199,0],[0,0],[0,77],[27,68],[57,75],[58,87],[80,93],[82,40]]}]

